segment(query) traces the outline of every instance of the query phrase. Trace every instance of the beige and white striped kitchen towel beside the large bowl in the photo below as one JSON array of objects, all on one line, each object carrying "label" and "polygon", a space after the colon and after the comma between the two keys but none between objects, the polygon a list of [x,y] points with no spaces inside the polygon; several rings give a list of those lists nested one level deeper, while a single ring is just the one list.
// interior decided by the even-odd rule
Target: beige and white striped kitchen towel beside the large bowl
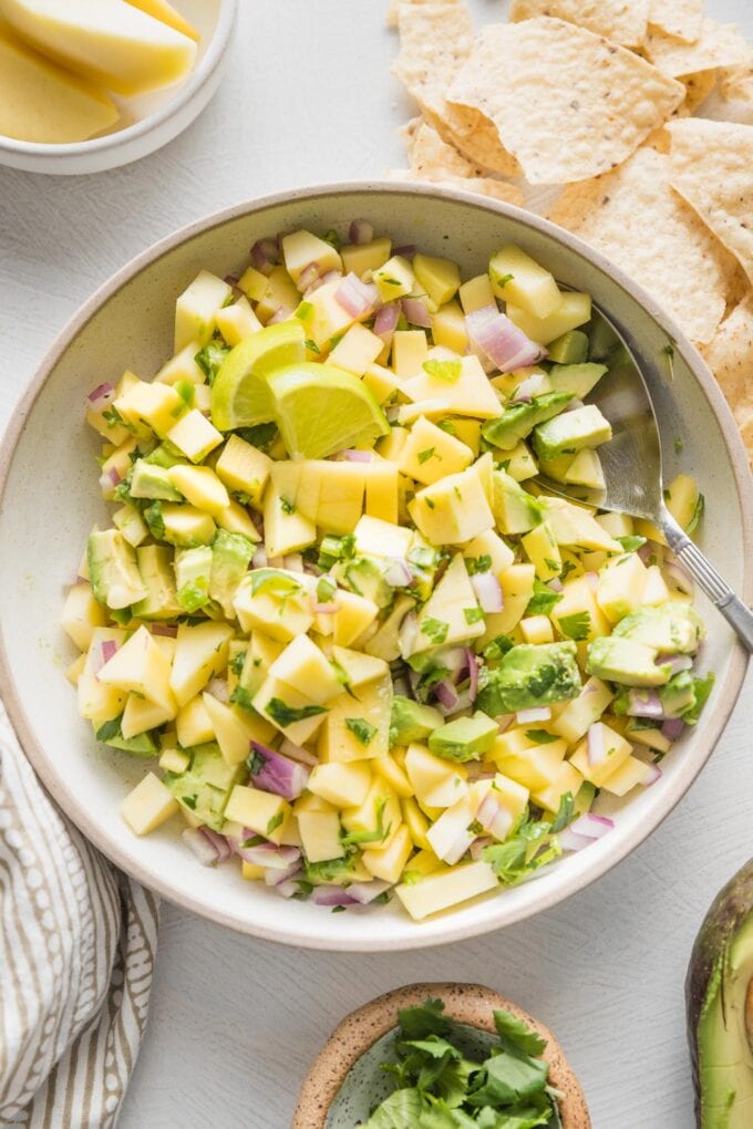
[{"label": "beige and white striped kitchen towel beside the large bowl", "polygon": [[147,1022],[157,924],[157,898],[51,802],[0,703],[0,1124],[115,1124]]}]

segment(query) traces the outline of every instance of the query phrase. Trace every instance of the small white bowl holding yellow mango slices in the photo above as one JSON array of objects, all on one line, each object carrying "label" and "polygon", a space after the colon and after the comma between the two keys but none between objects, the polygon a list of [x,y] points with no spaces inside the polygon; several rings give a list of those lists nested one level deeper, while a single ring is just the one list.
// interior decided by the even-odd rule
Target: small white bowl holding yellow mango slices
[{"label": "small white bowl holding yellow mango slices", "polygon": [[[196,63],[183,82],[140,98],[117,98],[120,122],[89,141],[47,145],[0,135],[0,165],[27,173],[77,176],[139,160],[182,133],[217,90],[229,58],[238,0],[182,0],[181,14],[200,33]],[[131,120],[130,125],[121,124]]]}]

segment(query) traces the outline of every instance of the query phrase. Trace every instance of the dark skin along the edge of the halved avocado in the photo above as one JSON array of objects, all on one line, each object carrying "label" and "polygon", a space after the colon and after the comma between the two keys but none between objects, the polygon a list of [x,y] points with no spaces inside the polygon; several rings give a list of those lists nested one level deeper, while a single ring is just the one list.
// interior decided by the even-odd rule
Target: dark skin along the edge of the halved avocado
[{"label": "dark skin along the edge of the halved avocado", "polygon": [[[695,1122],[703,1124],[703,1093],[698,1027],[719,959],[753,913],[753,859],[729,879],[711,902],[695,937],[685,977],[688,1043],[695,1091]],[[707,1127],[713,1129],[713,1127]]]}]

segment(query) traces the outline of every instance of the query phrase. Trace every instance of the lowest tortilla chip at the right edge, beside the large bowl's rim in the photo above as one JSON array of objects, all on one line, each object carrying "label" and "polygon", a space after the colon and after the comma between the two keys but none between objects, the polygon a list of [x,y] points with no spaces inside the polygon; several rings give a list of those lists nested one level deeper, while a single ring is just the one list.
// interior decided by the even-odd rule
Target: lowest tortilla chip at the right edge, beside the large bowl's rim
[{"label": "lowest tortilla chip at the right edge, beside the large bowl's rim", "polygon": [[753,461],[753,295],[741,301],[701,350],[739,425]]}]

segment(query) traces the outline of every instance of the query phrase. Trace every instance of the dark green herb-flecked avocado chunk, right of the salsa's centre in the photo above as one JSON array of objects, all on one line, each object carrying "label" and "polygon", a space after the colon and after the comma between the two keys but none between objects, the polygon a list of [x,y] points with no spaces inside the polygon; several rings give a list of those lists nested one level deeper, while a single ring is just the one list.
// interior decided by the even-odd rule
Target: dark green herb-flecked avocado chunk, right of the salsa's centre
[{"label": "dark green herb-flecked avocado chunk, right of the salsa's centre", "polygon": [[476,704],[491,717],[577,698],[581,689],[575,642],[519,644],[482,675]]}]

